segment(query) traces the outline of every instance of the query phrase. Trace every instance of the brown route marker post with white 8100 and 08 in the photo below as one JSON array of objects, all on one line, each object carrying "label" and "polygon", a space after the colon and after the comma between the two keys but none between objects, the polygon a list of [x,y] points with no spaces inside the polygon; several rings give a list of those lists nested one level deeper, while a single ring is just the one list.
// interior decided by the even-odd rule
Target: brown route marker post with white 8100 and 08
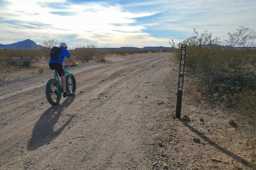
[{"label": "brown route marker post with white 8100 and 08", "polygon": [[176,118],[180,118],[180,112],[181,112],[181,101],[182,101],[182,92],[183,92],[183,80],[184,80],[186,49],[187,49],[187,44],[181,44],[179,83],[178,83],[176,116],[175,116]]}]

